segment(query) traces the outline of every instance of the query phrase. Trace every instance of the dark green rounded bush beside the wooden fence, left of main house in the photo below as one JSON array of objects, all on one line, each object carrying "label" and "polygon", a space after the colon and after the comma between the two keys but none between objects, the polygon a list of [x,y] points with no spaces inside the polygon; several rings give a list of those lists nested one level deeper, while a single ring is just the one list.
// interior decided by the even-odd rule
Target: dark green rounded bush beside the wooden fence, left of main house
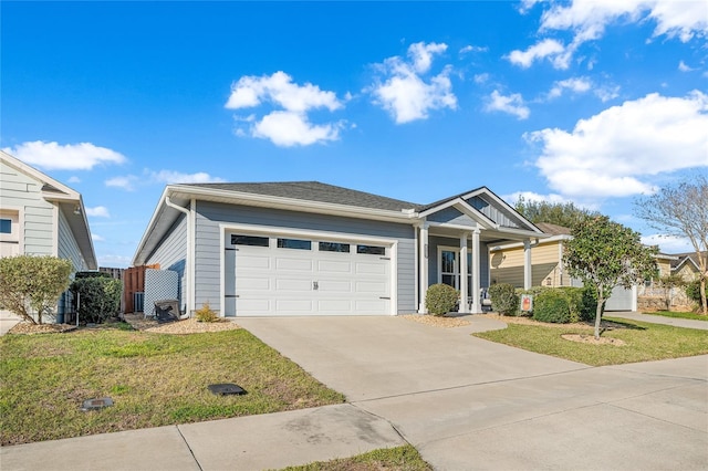
[{"label": "dark green rounded bush beside the wooden fence, left of main house", "polygon": [[112,278],[88,276],[74,280],[71,291],[79,302],[79,320],[101,324],[117,314],[122,289],[123,283]]}]

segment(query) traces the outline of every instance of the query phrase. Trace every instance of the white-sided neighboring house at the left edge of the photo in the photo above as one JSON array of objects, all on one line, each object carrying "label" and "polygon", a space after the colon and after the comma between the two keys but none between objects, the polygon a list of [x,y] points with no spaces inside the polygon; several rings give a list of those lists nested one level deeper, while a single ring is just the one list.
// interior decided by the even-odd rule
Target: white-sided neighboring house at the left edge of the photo
[{"label": "white-sided neighboring house at the left edge of the photo", "polygon": [[0,150],[0,257],[19,254],[66,259],[74,272],[97,269],[81,195]]}]

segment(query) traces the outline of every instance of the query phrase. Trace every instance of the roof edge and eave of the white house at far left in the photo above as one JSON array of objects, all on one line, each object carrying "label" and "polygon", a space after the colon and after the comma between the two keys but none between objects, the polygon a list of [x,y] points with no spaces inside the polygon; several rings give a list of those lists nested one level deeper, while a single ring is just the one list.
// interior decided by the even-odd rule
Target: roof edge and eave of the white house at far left
[{"label": "roof edge and eave of the white house at far left", "polygon": [[3,150],[0,150],[0,159],[2,159],[6,165],[42,184],[42,197],[48,201],[56,202],[69,222],[69,227],[74,234],[86,265],[90,270],[97,270],[98,263],[96,262],[96,253],[93,248],[93,240],[91,239],[88,220],[86,219],[86,209],[84,208],[81,193],[54,180],[49,175],[42,174],[34,167],[30,167]]}]

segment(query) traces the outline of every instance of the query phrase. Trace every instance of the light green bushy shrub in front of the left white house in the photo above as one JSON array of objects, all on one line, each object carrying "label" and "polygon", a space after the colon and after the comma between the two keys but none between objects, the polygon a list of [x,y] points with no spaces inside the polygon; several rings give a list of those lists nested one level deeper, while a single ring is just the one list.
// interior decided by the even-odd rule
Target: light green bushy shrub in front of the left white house
[{"label": "light green bushy shrub in front of the left white house", "polygon": [[56,257],[0,259],[0,305],[27,322],[42,324],[42,316],[52,313],[69,287],[71,272],[71,262]]}]

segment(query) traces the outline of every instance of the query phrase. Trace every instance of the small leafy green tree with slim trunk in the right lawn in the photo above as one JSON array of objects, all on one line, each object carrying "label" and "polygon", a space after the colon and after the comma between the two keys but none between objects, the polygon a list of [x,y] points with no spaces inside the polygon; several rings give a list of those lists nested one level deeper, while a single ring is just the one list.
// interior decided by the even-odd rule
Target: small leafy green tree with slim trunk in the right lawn
[{"label": "small leafy green tree with slim trunk in the right lawn", "polygon": [[606,216],[576,222],[571,236],[563,263],[571,276],[595,290],[595,338],[600,338],[600,322],[612,290],[617,285],[629,289],[656,273],[658,249],[643,245],[639,233]]}]

